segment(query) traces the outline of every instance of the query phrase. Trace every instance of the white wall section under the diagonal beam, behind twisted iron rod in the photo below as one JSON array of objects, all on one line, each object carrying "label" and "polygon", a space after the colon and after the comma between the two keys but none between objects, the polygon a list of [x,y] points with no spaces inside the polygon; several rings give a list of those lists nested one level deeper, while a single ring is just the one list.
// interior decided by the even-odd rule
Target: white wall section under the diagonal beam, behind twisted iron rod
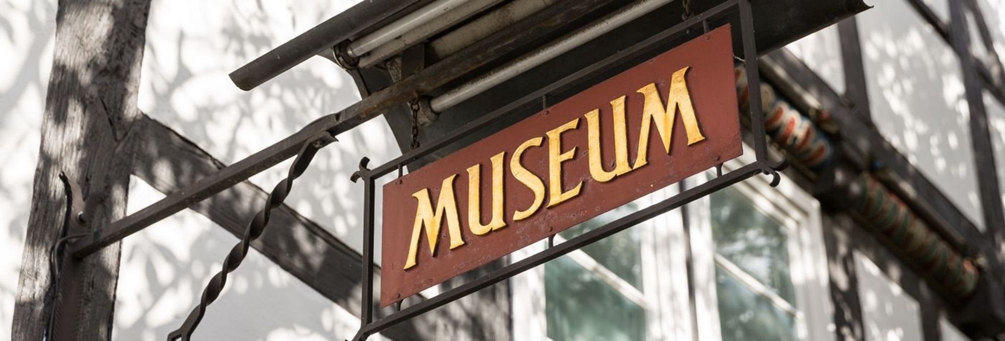
[{"label": "white wall section under the diagonal beam, behind twisted iron rod", "polygon": [[[130,182],[130,214],[164,198],[142,180]],[[114,340],[163,340],[188,317],[209,278],[237,243],[189,210],[123,244]],[[197,340],[344,340],[359,319],[251,249],[206,311]],[[375,337],[372,340],[381,340]]]}]

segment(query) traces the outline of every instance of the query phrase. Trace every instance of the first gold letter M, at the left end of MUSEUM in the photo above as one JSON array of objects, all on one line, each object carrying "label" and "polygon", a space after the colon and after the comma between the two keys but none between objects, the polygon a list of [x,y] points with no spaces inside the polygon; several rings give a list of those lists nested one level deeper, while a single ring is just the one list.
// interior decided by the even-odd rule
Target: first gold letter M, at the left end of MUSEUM
[{"label": "first gold letter M, at the left end of MUSEUM", "polygon": [[426,241],[429,242],[429,255],[436,256],[436,242],[439,241],[440,223],[446,216],[446,227],[450,232],[450,249],[464,245],[464,240],[460,236],[460,220],[457,218],[457,200],[453,196],[453,180],[457,175],[452,175],[443,180],[440,186],[439,199],[436,201],[436,214],[433,214],[432,204],[429,202],[429,189],[422,189],[412,195],[418,201],[415,209],[415,224],[412,226],[412,242],[408,246],[408,259],[405,260],[405,270],[415,266],[417,249],[419,248],[419,236],[422,234],[422,226],[426,227]]}]

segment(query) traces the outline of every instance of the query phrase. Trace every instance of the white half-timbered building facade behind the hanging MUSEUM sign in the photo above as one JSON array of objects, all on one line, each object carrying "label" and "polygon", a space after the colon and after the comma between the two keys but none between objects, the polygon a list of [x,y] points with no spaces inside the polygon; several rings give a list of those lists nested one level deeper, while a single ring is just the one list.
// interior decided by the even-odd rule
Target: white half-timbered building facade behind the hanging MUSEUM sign
[{"label": "white half-timbered building facade behind the hanging MUSEUM sign", "polygon": [[[129,67],[81,63],[75,73],[85,79],[81,88],[102,89],[107,86],[105,78],[93,74],[122,72],[130,86],[124,104],[84,100],[80,112],[93,115],[93,107],[102,106],[93,103],[106,103],[110,111],[121,106],[129,112],[124,116],[126,130],[142,131],[112,133],[117,136],[113,145],[125,145],[122,150],[127,151],[113,153],[120,157],[110,159],[130,162],[126,176],[120,177],[122,183],[117,183],[125,187],[107,187],[113,198],[108,202],[121,204],[122,211],[98,218],[111,224],[293,135],[318,117],[380,95],[438,62],[454,60],[449,57],[467,53],[464,48],[478,41],[495,39],[508,27],[524,28],[520,34],[533,39],[514,43],[498,60],[472,67],[446,84],[476,79],[506,60],[520,59],[635,4],[573,2],[460,1],[462,5],[444,12],[441,19],[450,23],[446,28],[414,29],[411,35],[362,54],[349,67],[344,59],[333,63],[330,59],[344,55],[329,51],[244,91],[234,86],[229,72],[334,15],[372,16],[372,21],[363,20],[370,18],[363,14],[356,17],[362,18],[352,37],[358,39],[439,2],[410,1],[411,5],[378,18],[377,10],[351,12],[353,6],[376,8],[373,2],[110,1],[84,2],[79,8],[87,10],[81,11],[54,1],[7,0],[0,11],[4,19],[0,22],[6,25],[0,27],[9,34],[0,37],[0,46],[14,53],[8,55],[6,72],[0,75],[4,108],[0,143],[9,150],[0,177],[0,203],[5,204],[0,205],[0,225],[7,231],[0,238],[4,255],[0,337],[48,338],[52,334],[46,330],[61,323],[51,317],[56,303],[46,298],[48,287],[58,287],[49,275],[47,255],[52,242],[65,235],[41,226],[31,215],[47,212],[39,209],[39,201],[65,201],[61,185],[46,187],[39,182],[46,174],[66,172],[65,164],[50,161],[61,159],[62,151],[54,151],[46,142],[60,140],[47,130],[61,126],[56,124],[60,116],[53,96],[65,91],[60,84],[67,70],[74,70],[74,54],[66,51],[90,46],[67,41],[74,41],[71,33],[82,32],[76,35],[106,41],[93,46],[113,46],[112,50],[119,46],[114,43],[123,44],[122,39],[103,38],[115,34],[81,29],[73,20],[83,19],[67,13],[89,13],[96,19],[87,20],[98,23],[121,18],[134,23],[126,25],[126,31],[135,34],[129,35],[134,40],[125,40],[137,51],[133,58],[125,58]],[[379,164],[416,148],[413,141],[435,142],[471,121],[475,113],[505,107],[562,81],[720,2],[670,1],[656,6],[439,110],[433,119],[410,117],[409,106],[402,102],[341,132],[339,141],[321,149],[297,179],[268,230],[229,274],[222,294],[208,306],[192,337],[351,339],[360,328],[360,309],[365,305],[360,295],[366,281],[359,274],[361,254],[366,252],[360,228],[367,220],[365,198],[362,185],[350,180],[361,158]],[[748,112],[751,92],[757,91],[770,156],[791,163],[777,187],[770,176],[754,177],[370,339],[1005,338],[1005,2],[883,0],[868,3],[873,7],[864,11],[853,6],[856,1],[835,2],[833,7],[839,9],[810,3],[754,3],[756,23],[785,23],[776,25],[777,30],[756,27],[758,46],[763,48],[759,89],[748,86],[742,51],[735,48],[745,152],[721,170],[729,173],[754,159],[756,135]],[[116,9],[130,11],[122,14]],[[828,10],[834,14],[817,16]],[[493,13],[509,14],[500,18],[491,17]],[[566,21],[546,26],[549,18]],[[735,32],[743,30],[733,19],[710,19],[710,24],[730,22]],[[505,25],[483,23],[492,20]],[[109,32],[123,30],[110,27]],[[687,34],[700,34],[696,30]],[[739,33],[735,40],[740,40]],[[510,46],[505,41],[495,43]],[[517,106],[515,115],[458,138],[402,173],[433,162],[681,41],[682,37],[668,38],[648,52],[617,60],[608,71],[546,93],[533,107]],[[100,49],[95,51],[102,55]],[[443,92],[437,87],[422,94]],[[413,123],[419,119],[428,121]],[[99,135],[85,131],[88,138]],[[93,283],[108,294],[93,295],[108,302],[94,308],[98,312],[94,315],[80,315],[91,323],[78,324],[74,337],[155,340],[182,326],[265,202],[268,189],[287,176],[290,164],[285,160],[236,182],[114,244],[121,250],[97,254],[107,259],[103,263],[107,268],[94,275],[99,281]],[[80,177],[89,179],[87,172]],[[711,168],[689,177],[553,240],[427,289],[402,306],[407,309],[433,299],[719,176]],[[397,177],[382,177],[377,185]],[[85,193],[98,191],[88,186],[83,185]],[[39,199],[44,197],[40,189],[54,195]],[[376,210],[379,220],[382,211],[394,208],[378,205]],[[379,248],[380,233],[375,238]],[[379,265],[381,253],[375,257]],[[99,305],[103,299],[91,304]],[[377,309],[375,319],[395,309]],[[56,335],[59,339],[66,334]]]}]

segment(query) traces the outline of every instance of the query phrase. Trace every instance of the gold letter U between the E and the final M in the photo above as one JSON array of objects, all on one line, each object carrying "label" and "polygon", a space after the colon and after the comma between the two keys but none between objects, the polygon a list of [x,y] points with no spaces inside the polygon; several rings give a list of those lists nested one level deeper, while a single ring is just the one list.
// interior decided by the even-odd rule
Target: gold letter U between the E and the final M
[{"label": "gold letter U between the E and the final M", "polygon": [[586,125],[588,130],[587,148],[590,154],[590,176],[600,183],[607,183],[614,177],[623,175],[631,170],[628,165],[628,130],[625,128],[625,96],[614,98],[611,101],[614,119],[614,170],[604,170],[603,157],[600,148],[600,110],[593,109],[586,114]]}]

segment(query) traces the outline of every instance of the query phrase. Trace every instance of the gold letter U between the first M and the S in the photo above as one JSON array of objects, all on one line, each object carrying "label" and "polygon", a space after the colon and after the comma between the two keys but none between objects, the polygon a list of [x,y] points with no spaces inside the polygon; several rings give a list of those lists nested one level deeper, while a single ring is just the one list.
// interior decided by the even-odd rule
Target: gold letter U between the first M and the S
[{"label": "gold letter U between the first M and the S", "polygon": [[492,220],[481,225],[481,163],[467,168],[467,225],[471,233],[481,236],[506,227],[502,221],[502,157],[506,151],[491,157],[492,162]]}]

